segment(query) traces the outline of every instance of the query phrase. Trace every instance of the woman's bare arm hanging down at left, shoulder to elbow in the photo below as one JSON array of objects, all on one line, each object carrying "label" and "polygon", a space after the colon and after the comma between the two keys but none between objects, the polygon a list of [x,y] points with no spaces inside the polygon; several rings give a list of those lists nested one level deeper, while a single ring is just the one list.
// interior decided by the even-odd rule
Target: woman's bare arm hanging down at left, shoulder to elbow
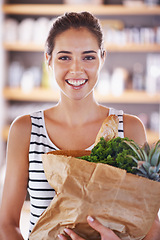
[{"label": "woman's bare arm hanging down at left, shoulder to elbow", "polygon": [[6,178],[0,207],[1,240],[23,239],[19,230],[19,220],[27,194],[30,132],[29,116],[17,119],[10,129]]}]

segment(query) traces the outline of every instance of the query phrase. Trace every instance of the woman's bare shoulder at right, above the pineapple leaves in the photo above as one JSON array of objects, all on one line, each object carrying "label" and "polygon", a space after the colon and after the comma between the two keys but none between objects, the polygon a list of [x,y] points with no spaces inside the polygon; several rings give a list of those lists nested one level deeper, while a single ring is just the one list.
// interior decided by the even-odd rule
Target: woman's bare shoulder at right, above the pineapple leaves
[{"label": "woman's bare shoulder at right, above the pineapple leaves", "polygon": [[146,131],[142,121],[135,115],[124,114],[124,136],[143,145],[146,139]]}]

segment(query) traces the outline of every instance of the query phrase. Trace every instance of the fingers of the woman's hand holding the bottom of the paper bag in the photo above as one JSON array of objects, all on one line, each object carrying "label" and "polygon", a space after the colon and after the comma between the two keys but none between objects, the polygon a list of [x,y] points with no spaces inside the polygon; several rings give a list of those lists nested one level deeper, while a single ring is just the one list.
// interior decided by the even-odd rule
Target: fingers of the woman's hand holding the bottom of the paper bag
[{"label": "fingers of the woman's hand holding the bottom of the paper bag", "polygon": [[[101,235],[101,240],[120,240],[119,237],[109,228],[104,227],[100,222],[93,219],[92,217],[87,217],[88,224],[95,229]],[[64,232],[67,233],[72,240],[84,240],[83,238],[79,237],[73,230],[69,228],[65,228]],[[59,239],[67,240],[67,238],[63,234],[58,235]]]}]

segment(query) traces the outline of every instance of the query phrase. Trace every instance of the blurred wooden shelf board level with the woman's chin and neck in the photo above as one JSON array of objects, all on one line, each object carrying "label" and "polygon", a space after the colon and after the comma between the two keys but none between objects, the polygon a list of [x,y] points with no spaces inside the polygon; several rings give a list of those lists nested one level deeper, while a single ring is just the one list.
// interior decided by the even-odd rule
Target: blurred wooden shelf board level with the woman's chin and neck
[{"label": "blurred wooden shelf board level with the woman's chin and neck", "polygon": [[[29,93],[23,92],[20,88],[4,88],[3,97],[9,101],[37,101],[57,102],[59,92],[52,89],[35,88]],[[137,104],[159,104],[160,94],[148,95],[144,91],[125,91],[121,96],[115,97],[111,94],[100,95],[95,91],[95,98],[99,102],[106,103],[137,103]]]}]

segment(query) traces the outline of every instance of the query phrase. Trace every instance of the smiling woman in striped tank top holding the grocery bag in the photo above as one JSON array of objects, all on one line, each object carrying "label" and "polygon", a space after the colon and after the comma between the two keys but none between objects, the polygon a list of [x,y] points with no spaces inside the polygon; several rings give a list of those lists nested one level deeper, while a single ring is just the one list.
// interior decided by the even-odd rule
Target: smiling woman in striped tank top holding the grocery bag
[{"label": "smiling woman in striped tank top holding the grocery bag", "polygon": [[[138,144],[146,141],[143,124],[137,117],[102,106],[94,98],[105,56],[101,28],[91,14],[68,13],[53,24],[46,42],[46,60],[59,85],[60,100],[50,109],[16,119],[11,126],[1,239],[23,239],[19,219],[27,189],[31,200],[30,232],[55,195],[44,175],[42,153],[91,149],[102,122],[111,113],[118,114],[119,136]],[[111,235],[108,240],[118,239],[113,232]],[[102,239],[106,238],[102,235]]]}]

